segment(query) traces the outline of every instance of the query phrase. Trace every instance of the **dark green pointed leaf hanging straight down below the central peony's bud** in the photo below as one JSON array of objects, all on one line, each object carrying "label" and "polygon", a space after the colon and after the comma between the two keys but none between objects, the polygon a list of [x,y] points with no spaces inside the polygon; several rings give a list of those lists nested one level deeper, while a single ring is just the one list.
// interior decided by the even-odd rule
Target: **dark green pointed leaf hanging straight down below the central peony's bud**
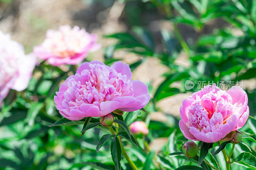
[{"label": "dark green pointed leaf hanging straight down below the central peony's bud", "polygon": [[117,137],[113,138],[110,146],[110,151],[111,151],[111,157],[115,164],[116,170],[121,170],[120,161],[122,159],[122,150]]}]

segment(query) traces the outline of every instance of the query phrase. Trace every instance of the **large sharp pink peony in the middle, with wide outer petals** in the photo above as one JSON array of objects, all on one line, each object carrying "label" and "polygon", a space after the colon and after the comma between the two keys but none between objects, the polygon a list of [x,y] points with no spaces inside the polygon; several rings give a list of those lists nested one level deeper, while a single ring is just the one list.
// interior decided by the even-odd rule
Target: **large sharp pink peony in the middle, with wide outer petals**
[{"label": "large sharp pink peony in the middle, with wide outer petals", "polygon": [[104,116],[116,109],[141,109],[150,99],[148,86],[131,78],[129,65],[121,61],[111,67],[99,61],[85,62],[60,85],[54,96],[56,107],[73,121]]}]

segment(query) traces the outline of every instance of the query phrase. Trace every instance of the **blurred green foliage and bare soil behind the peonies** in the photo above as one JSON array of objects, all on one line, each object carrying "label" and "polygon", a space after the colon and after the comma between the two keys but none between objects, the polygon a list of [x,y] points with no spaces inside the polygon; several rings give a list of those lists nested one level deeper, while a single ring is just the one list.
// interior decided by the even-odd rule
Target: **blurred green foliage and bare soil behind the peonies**
[{"label": "blurred green foliage and bare soil behind the peonies", "polygon": [[[168,159],[174,165],[165,169],[184,163],[165,156],[186,141],[177,126],[179,108],[198,91],[198,82],[221,81],[225,90],[228,82],[242,83],[250,115],[255,115],[255,0],[0,0],[0,30],[22,43],[26,54],[44,41],[48,29],[61,25],[85,27],[98,35],[103,48],[87,61],[111,65],[122,60],[130,64],[132,79],[148,85],[147,113],[136,111],[126,123],[148,124],[150,147],[161,155],[159,161]],[[66,78],[61,70],[35,69],[27,90],[9,93],[0,115],[0,169],[102,169],[91,163],[99,160],[110,166],[105,169],[113,166],[108,147],[95,151],[103,129],[80,137],[82,125],[48,127],[61,118],[53,102]],[[186,89],[186,80],[195,87]],[[244,131],[256,133],[250,128],[256,121],[248,122]],[[129,154],[143,166],[146,152],[130,148]],[[129,169],[126,162],[122,167]]]}]

